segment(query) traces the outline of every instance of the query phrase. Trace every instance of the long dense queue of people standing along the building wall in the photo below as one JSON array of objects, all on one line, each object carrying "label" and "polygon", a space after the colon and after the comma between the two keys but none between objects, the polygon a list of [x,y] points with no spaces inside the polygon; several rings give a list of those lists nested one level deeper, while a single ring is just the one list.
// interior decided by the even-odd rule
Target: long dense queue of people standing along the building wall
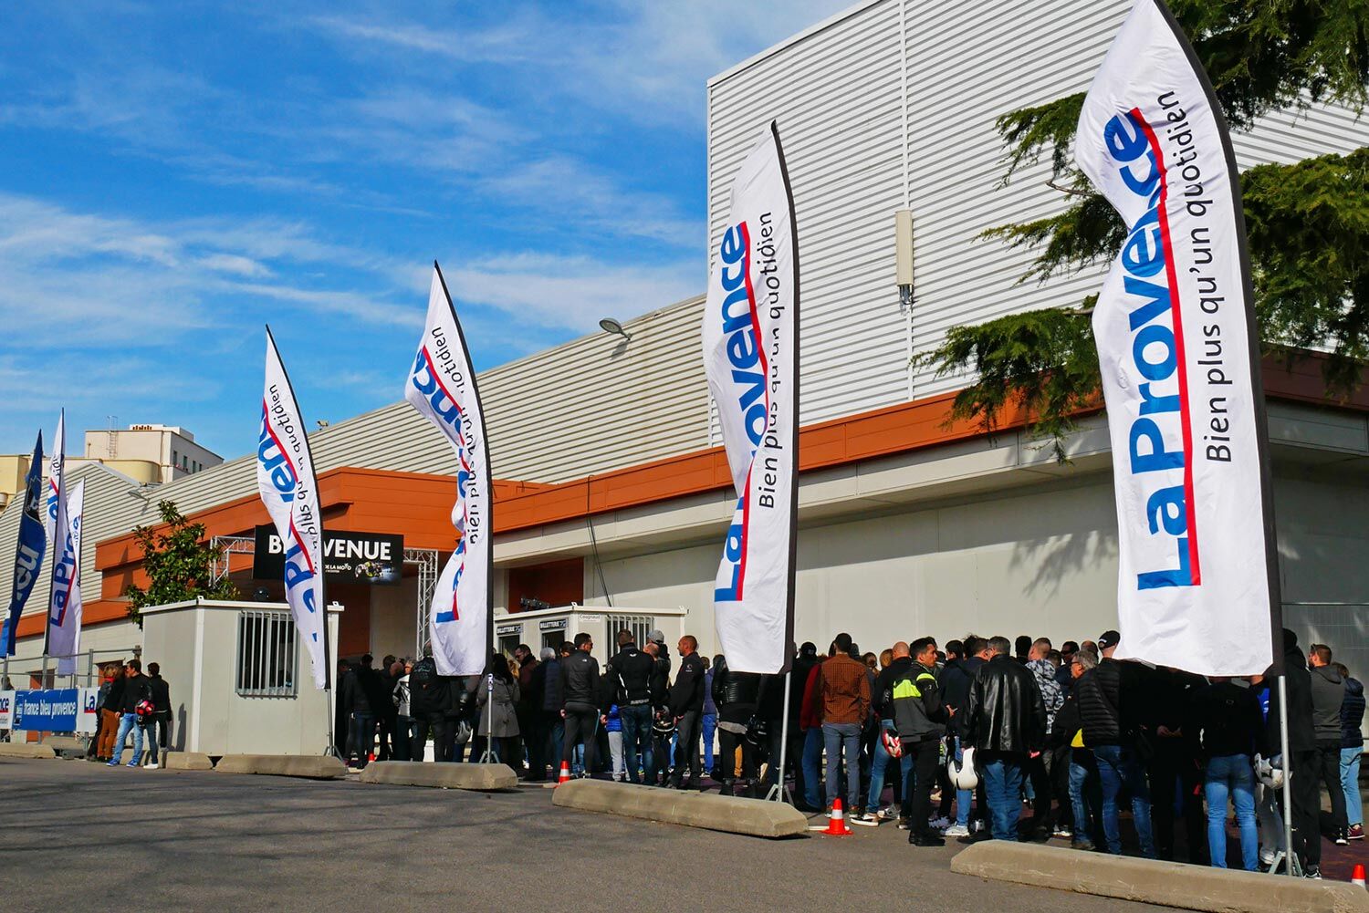
[{"label": "long dense queue of people standing along the building wall", "polygon": [[[789,682],[701,657],[689,635],[675,656],[660,631],[642,646],[626,630],[616,639],[602,669],[587,634],[538,656],[526,645],[512,660],[497,653],[481,676],[439,676],[431,657],[386,657],[381,669],[361,657],[342,671],[340,743],[357,767],[423,760],[431,739],[437,761],[490,756],[534,782],[564,769],[705,788],[706,771],[723,794],[760,797],[776,782],[787,731],[798,808],[830,812],[841,798],[853,823],[897,820],[914,846],[1062,838],[1117,854],[1125,809],[1125,839],[1142,856],[1173,860],[1181,847],[1190,862],[1225,866],[1233,809],[1242,868],[1270,868],[1287,850],[1268,675],[1118,661],[1116,631],[1060,649],[1031,636],[969,634],[943,646],[923,636],[879,656],[839,634],[826,656],[804,643]],[[1328,836],[1364,838],[1364,686],[1331,647],[1305,656],[1291,631],[1283,658],[1292,850],[1317,876],[1321,786]]]}]

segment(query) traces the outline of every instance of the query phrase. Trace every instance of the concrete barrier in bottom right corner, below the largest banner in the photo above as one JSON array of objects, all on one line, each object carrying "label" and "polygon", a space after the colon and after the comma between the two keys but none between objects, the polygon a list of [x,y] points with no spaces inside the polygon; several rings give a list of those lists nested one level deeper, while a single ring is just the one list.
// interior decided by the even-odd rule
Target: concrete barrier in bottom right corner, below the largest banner
[{"label": "concrete barrier in bottom right corner, below the largest banner", "polygon": [[997,882],[1213,913],[1369,912],[1369,892],[1344,882],[1309,882],[1105,853],[1084,854],[1034,843],[975,843],[950,861],[950,871]]}]

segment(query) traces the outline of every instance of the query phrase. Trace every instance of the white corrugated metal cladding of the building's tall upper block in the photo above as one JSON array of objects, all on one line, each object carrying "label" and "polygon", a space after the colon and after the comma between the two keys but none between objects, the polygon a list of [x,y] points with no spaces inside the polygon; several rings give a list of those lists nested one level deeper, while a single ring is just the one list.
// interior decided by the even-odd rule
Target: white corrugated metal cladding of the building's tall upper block
[{"label": "white corrugated metal cladding of the building's tall upper block", "polygon": [[[949,327],[1073,305],[1098,289],[1102,270],[1017,285],[1031,252],[979,235],[1065,205],[1046,186],[1047,163],[998,186],[994,120],[1087,89],[1129,8],[875,0],[711,81],[713,244],[732,175],[779,120],[798,222],[805,423],[953,390],[961,378],[909,368]],[[1366,142],[1369,125],[1318,107],[1268,118],[1236,149],[1249,167]],[[916,237],[910,315],[894,285],[894,211],[905,205]]]}]

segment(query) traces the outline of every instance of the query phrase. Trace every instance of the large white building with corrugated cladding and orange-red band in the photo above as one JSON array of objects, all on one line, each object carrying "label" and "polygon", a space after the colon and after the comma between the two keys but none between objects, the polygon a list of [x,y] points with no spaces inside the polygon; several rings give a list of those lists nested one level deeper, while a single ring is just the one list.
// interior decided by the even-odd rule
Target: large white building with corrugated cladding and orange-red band
[{"label": "large white building with corrugated cladding and orange-red band", "polygon": [[[845,630],[879,650],[973,630],[1060,642],[1116,626],[1105,417],[1086,417],[1068,442],[1072,463],[1057,465],[1017,426],[997,435],[949,426],[964,378],[938,378],[912,357],[954,324],[1076,304],[1098,287],[1101,271],[1019,285],[1031,253],[980,235],[1062,205],[1045,164],[999,186],[994,120],[1084,90],[1128,7],[865,0],[709,81],[711,245],[732,175],[772,118],[795,194],[799,641],[826,647]],[[1366,144],[1369,125],[1318,107],[1269,116],[1236,148],[1251,166]],[[895,285],[898,211],[914,224],[910,307]],[[672,619],[683,608],[683,628],[715,650],[713,578],[735,497],[704,381],[701,308],[701,298],[660,307],[624,322],[630,339],[596,334],[481,376],[493,471],[505,480],[494,506],[501,643],[567,634],[524,606],[612,602]],[[1285,621],[1364,678],[1369,396],[1328,401],[1314,363],[1266,368]],[[405,549],[438,558],[450,552],[450,449],[407,404],[334,423],[311,445],[335,528],[402,534]],[[137,571],[129,532],[155,517],[157,498],[209,535],[242,541],[266,522],[251,456],[172,474],[155,497],[103,474],[86,487],[82,589],[88,617],[103,619],[86,643],[140,643],[119,594]],[[16,511],[0,515],[0,554],[16,527]],[[413,652],[427,579],[416,568],[398,586],[330,590],[345,606],[344,654]],[[8,574],[0,563],[0,591]],[[270,583],[244,561],[233,576],[246,594]],[[30,605],[45,601],[42,580]],[[25,636],[19,650],[27,669],[41,638]]]}]

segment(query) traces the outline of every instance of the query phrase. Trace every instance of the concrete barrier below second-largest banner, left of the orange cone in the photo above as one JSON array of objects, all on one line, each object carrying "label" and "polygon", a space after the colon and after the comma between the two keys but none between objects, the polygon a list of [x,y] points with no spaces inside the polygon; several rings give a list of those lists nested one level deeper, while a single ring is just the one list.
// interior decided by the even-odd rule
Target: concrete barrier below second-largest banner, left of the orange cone
[{"label": "concrete barrier below second-largest banner, left of the orange cone", "polygon": [[552,793],[552,803],[582,812],[701,827],[747,836],[780,838],[808,834],[808,819],[784,802],[742,799],[609,780],[571,780]]}]

